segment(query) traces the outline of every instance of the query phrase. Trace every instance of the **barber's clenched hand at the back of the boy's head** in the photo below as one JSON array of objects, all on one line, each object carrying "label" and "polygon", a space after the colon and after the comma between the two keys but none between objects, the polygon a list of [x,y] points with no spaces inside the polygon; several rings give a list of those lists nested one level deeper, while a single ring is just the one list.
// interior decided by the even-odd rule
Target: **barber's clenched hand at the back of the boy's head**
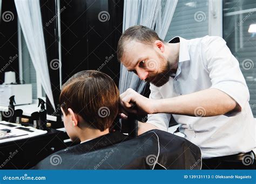
[{"label": "barber's clenched hand at the back of the boy's head", "polygon": [[129,88],[120,95],[121,112],[124,114],[146,115],[154,114],[157,109],[154,108],[156,100],[146,98]]}]

